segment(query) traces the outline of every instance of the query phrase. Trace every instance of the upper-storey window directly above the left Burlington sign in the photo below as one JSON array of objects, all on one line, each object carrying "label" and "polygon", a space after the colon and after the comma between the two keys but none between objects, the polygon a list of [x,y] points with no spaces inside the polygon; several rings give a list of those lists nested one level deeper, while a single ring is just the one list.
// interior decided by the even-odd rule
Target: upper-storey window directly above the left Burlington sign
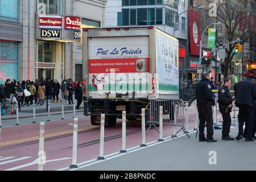
[{"label": "upper-storey window directly above the left Burlington sign", "polygon": [[38,0],[38,14],[61,14],[63,0]]}]

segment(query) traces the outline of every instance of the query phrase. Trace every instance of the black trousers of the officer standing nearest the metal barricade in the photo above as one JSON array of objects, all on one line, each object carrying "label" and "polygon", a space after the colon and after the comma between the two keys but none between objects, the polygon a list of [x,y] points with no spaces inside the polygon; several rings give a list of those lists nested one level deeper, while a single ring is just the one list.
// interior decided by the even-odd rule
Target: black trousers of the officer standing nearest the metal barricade
[{"label": "black trousers of the officer standing nearest the metal barricade", "polygon": [[213,139],[213,117],[212,107],[207,108],[204,105],[197,106],[199,113],[199,138],[204,138],[205,122],[207,127],[207,139]]}]

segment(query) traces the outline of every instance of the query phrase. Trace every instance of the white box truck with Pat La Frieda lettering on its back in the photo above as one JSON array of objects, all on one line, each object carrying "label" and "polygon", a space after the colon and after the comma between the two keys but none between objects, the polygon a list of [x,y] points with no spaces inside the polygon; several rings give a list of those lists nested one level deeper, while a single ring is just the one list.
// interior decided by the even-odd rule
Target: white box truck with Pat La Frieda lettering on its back
[{"label": "white box truck with Pat La Frieda lettering on its back", "polygon": [[150,100],[178,100],[179,41],[155,26],[84,28],[84,114],[92,125],[114,126],[126,111],[141,117]]}]

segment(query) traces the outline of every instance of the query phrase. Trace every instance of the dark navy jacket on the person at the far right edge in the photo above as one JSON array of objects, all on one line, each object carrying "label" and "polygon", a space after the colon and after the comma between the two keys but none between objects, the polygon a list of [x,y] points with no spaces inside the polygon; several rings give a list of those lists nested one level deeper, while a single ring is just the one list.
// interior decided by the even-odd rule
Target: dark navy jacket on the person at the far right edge
[{"label": "dark navy jacket on the person at the far right edge", "polygon": [[256,98],[256,84],[249,78],[238,82],[234,95],[236,106],[247,105],[253,107]]}]

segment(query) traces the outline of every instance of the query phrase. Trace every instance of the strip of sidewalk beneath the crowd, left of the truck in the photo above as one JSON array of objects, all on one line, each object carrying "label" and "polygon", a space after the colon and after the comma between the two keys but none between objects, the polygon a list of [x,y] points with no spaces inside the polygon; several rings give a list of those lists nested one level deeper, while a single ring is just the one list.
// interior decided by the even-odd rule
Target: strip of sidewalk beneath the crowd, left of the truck
[{"label": "strip of sidewalk beneath the crowd, left of the truck", "polygon": [[[76,112],[84,111],[83,103],[80,105],[80,108],[81,108],[80,110],[76,109]],[[53,103],[51,101],[50,109],[51,109],[51,115],[61,114],[61,103],[60,102]],[[36,116],[47,115],[48,111],[46,111],[46,102],[44,102],[43,106],[35,105],[35,113],[36,113]],[[73,113],[73,105],[68,105],[67,102],[64,102],[64,113]],[[24,105],[23,107],[21,107],[21,111],[19,111],[19,118],[30,118],[30,117],[33,117],[33,106]],[[2,115],[2,120],[5,120],[5,119],[16,119],[16,114]]]}]

